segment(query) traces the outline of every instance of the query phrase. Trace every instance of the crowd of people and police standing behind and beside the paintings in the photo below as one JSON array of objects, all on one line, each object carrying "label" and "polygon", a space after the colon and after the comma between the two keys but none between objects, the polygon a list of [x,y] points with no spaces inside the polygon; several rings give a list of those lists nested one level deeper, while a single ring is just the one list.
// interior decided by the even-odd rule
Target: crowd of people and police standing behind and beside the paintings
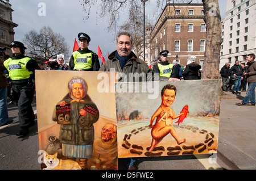
[{"label": "crowd of people and police standing behind and beside the paintings", "polygon": [[[102,66],[100,66],[97,54],[88,49],[90,37],[83,32],[79,33],[78,37],[80,48],[72,53],[69,65],[64,64],[64,56],[57,57],[56,61],[46,61],[43,64],[38,64],[34,59],[24,55],[26,47],[24,47],[21,42],[13,41],[13,43],[9,45],[13,56],[7,58],[4,62],[0,61],[0,126],[12,122],[12,120],[9,120],[7,112],[6,92],[9,82],[6,79],[4,71],[8,71],[13,90],[13,100],[18,106],[20,130],[16,136],[26,136],[29,133],[28,128],[35,124],[35,115],[31,106],[35,91],[33,82],[35,70],[116,71],[122,74],[125,73],[127,77],[129,73],[144,73],[146,75],[146,81],[201,79],[201,66],[196,63],[195,56],[189,57],[187,65],[182,69],[181,65],[179,65],[176,60],[172,61],[172,63],[167,61],[168,50],[163,50],[159,53],[158,64],[150,69],[143,60],[138,58],[136,54],[131,51],[133,47],[133,37],[129,32],[121,31],[117,34],[117,50],[114,50],[114,52],[109,55],[108,60],[106,60]],[[255,56],[254,58],[252,55],[248,57],[252,58],[250,58],[250,64],[247,64],[247,69],[246,66],[242,67],[239,65],[239,62],[236,62],[231,69],[229,69],[229,63],[221,69],[222,89],[224,91],[230,89],[230,82],[234,81],[233,92],[237,94],[240,89],[246,90],[247,81],[249,83],[248,90],[252,92],[252,95],[247,96],[246,93],[246,100],[241,104],[247,104],[248,100],[251,99],[251,105],[255,105],[255,91],[253,90],[255,89],[256,82],[256,64],[251,63],[254,62]],[[254,73],[252,73],[253,71]],[[159,74],[159,79],[155,79],[154,73]],[[123,81],[121,76],[119,77],[119,81]],[[127,81],[133,81],[133,79],[128,79]],[[140,79],[140,81],[143,80]],[[248,91],[248,94],[250,92]],[[125,158],[127,168],[136,169],[135,161],[136,158]]]}]

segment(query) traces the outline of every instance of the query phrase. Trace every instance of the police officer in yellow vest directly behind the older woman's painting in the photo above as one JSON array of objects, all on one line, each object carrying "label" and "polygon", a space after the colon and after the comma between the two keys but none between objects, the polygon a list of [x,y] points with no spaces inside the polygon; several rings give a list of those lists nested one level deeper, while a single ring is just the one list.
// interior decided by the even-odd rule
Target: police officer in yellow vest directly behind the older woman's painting
[{"label": "police officer in yellow vest directly behind the older woman's painting", "polygon": [[68,70],[98,71],[100,62],[98,56],[88,49],[90,37],[86,33],[79,33],[79,50],[72,53]]}]

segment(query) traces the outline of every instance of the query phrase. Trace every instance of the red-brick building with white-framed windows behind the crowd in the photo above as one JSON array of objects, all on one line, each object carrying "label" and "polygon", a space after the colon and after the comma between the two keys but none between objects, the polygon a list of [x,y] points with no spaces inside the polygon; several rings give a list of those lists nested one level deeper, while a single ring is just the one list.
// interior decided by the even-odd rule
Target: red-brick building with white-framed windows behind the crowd
[{"label": "red-brick building with white-framed windows behind the crowd", "polygon": [[151,65],[166,49],[170,63],[178,60],[185,66],[189,56],[196,56],[197,64],[203,68],[205,27],[203,3],[168,3],[151,32]]}]

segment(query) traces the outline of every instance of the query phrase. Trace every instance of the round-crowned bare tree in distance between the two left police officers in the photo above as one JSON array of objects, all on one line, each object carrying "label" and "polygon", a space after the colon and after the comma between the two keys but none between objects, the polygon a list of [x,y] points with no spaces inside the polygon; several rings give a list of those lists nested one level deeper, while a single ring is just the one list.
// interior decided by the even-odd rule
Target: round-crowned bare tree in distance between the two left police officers
[{"label": "round-crowned bare tree in distance between the two left police officers", "polygon": [[49,60],[56,58],[57,54],[68,54],[69,46],[60,33],[56,33],[51,27],[43,26],[39,32],[31,30],[25,33],[24,44],[28,51],[36,55],[35,58]]}]

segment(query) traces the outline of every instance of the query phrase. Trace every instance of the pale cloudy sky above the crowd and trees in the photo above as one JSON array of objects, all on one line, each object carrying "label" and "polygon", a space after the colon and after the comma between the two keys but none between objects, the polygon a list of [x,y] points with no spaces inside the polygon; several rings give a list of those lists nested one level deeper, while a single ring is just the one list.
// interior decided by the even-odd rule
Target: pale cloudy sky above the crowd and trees
[{"label": "pale cloudy sky above the crowd and trees", "polygon": [[[198,0],[195,0],[196,2]],[[25,33],[31,30],[39,31],[43,26],[49,26],[65,38],[69,45],[70,55],[75,38],[78,42],[77,35],[80,32],[90,36],[91,41],[88,47],[90,50],[98,54],[98,45],[100,46],[105,60],[108,57],[108,52],[110,54],[116,49],[114,33],[108,32],[107,29],[108,18],[97,19],[96,11],[100,12],[98,5],[91,7],[90,18],[85,19],[86,13],[82,11],[79,0],[10,0],[10,4],[14,10],[13,22],[18,24],[18,27],[14,28],[14,40],[16,41],[22,41]],[[165,5],[165,1],[163,4]],[[225,16],[226,0],[220,0],[219,6],[222,19]],[[43,9],[44,7],[45,9]],[[146,2],[145,14],[151,21],[159,10],[157,0]],[[127,16],[123,14],[121,18],[126,19]],[[67,59],[68,57],[65,57],[65,60]]]}]

